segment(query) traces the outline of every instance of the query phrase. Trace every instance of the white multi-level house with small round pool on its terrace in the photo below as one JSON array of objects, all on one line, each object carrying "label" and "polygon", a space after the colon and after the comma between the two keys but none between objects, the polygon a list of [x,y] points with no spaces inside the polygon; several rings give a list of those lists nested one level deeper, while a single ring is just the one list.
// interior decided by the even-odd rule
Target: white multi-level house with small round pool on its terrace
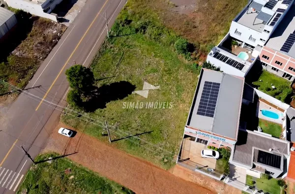
[{"label": "white multi-level house with small round pool on its terrace", "polygon": [[293,3],[294,0],[250,1],[232,21],[229,33],[211,49],[207,62],[225,73],[245,77]]}]

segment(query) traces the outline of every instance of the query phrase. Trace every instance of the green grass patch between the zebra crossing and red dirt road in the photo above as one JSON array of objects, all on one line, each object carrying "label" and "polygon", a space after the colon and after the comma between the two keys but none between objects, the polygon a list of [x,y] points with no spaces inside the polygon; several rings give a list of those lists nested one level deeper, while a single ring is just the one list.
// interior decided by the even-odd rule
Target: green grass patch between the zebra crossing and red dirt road
[{"label": "green grass patch between the zebra crossing and red dirt road", "polygon": [[[47,153],[36,157],[43,161],[57,154]],[[70,169],[70,170],[68,170]],[[67,171],[65,171],[67,170]],[[129,189],[67,158],[59,158],[33,165],[28,171],[18,194],[133,194]]]}]

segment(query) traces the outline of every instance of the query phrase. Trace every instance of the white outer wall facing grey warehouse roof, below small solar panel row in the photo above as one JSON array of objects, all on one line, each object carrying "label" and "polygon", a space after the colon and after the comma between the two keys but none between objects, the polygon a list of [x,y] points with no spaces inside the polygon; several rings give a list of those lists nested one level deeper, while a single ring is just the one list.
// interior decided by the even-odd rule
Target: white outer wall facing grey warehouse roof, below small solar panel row
[{"label": "white outer wall facing grey warehouse roof, below small solar panel row", "polygon": [[224,73],[245,77],[246,74],[241,72],[240,70],[234,68],[233,66],[230,66],[226,63],[223,63],[222,61],[219,61],[218,59],[214,58],[213,56],[207,55],[207,62],[210,62],[215,67],[220,67],[220,70]]}]

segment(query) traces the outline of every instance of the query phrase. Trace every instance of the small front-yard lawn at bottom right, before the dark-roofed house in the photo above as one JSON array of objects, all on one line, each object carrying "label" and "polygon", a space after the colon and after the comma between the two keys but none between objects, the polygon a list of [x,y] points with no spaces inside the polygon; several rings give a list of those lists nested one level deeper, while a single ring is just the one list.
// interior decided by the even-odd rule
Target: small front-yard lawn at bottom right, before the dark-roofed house
[{"label": "small front-yard lawn at bottom right, before the dark-roofed house", "polygon": [[280,194],[280,186],[277,184],[277,179],[270,178],[268,180],[262,178],[255,178],[250,175],[246,177],[246,184],[253,186],[250,183],[251,180],[254,180],[254,186],[257,189],[263,190],[264,192],[268,192],[270,194]]}]

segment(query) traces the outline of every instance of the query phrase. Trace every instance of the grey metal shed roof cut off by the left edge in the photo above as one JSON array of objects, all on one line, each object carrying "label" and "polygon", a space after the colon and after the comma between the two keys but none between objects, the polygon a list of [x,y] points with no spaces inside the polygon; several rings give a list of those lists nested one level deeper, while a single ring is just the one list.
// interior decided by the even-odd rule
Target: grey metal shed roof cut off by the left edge
[{"label": "grey metal shed roof cut off by the left edge", "polygon": [[12,11],[0,7],[0,38],[4,36],[15,24],[16,17]]}]

